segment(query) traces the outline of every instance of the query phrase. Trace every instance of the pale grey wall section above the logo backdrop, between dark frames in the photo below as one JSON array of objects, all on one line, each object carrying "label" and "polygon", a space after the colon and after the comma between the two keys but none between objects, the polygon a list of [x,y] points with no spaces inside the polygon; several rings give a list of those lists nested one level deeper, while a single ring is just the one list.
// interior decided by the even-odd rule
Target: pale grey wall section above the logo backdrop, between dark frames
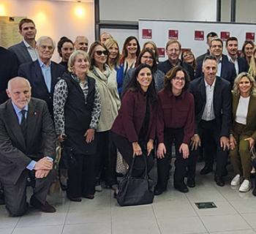
[{"label": "pale grey wall section above the logo backdrop, between dark frames", "polygon": [[100,20],[216,20],[216,0],[100,0]]}]

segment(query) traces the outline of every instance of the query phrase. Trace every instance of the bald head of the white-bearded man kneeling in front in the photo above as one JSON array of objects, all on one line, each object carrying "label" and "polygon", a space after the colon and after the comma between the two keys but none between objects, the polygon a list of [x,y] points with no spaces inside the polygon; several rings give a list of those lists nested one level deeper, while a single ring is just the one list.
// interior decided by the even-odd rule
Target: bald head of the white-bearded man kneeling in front
[{"label": "bald head of the white-bearded man kneeling in front", "polygon": [[12,102],[22,110],[29,104],[31,99],[31,86],[29,80],[20,77],[9,80],[7,95],[12,99]]}]

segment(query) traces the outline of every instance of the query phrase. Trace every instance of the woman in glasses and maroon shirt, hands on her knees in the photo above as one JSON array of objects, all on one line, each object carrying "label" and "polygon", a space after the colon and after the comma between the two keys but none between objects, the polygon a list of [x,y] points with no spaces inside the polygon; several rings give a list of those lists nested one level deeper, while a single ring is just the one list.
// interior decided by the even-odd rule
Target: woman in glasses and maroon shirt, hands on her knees
[{"label": "woman in glasses and maroon shirt, hands on her knees", "polygon": [[173,67],[165,75],[165,88],[158,93],[159,108],[157,118],[157,186],[155,195],[167,189],[170,158],[173,142],[176,146],[174,187],[180,192],[188,192],[184,184],[189,142],[194,135],[194,98],[187,91],[189,76],[180,66]]}]

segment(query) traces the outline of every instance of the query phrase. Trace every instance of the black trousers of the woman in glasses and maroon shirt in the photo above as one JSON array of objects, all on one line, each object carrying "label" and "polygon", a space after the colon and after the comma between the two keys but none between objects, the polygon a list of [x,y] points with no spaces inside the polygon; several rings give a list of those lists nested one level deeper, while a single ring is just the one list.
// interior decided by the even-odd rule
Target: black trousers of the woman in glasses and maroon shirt
[{"label": "black trousers of the woman in glasses and maroon shirt", "polygon": [[169,178],[170,159],[167,155],[171,154],[173,141],[176,148],[176,160],[174,171],[174,185],[179,186],[184,184],[184,177],[186,174],[187,159],[184,159],[182,154],[178,151],[181,143],[183,143],[184,129],[165,129],[165,148],[166,155],[163,159],[157,159],[157,187],[165,190]]}]

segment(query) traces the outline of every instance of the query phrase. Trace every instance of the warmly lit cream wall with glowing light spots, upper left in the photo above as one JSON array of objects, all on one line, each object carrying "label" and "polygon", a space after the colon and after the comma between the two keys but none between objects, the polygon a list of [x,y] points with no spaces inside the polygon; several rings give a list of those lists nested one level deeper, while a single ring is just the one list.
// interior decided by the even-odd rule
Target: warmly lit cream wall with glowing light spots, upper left
[{"label": "warmly lit cream wall with glowing light spots, upper left", "polygon": [[[81,15],[76,13],[80,9]],[[26,16],[34,20],[37,38],[50,36],[56,42],[62,36],[74,40],[78,35],[86,35],[89,43],[94,42],[94,4],[72,1],[31,1],[1,0],[0,15]],[[18,29],[17,29],[18,30]],[[54,61],[59,55],[54,53]]]}]

